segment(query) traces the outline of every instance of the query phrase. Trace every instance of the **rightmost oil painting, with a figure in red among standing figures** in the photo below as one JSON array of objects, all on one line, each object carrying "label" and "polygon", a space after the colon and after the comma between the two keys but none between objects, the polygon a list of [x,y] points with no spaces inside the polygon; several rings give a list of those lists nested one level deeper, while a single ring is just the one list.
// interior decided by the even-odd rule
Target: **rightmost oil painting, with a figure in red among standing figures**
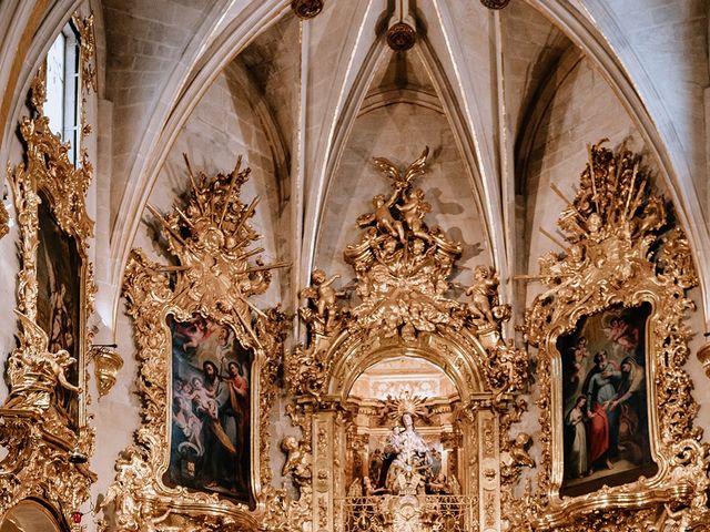
[{"label": "rightmost oil painting, with a figure in red among standing figures", "polygon": [[562,495],[651,477],[646,346],[651,305],[615,306],[560,337]]}]

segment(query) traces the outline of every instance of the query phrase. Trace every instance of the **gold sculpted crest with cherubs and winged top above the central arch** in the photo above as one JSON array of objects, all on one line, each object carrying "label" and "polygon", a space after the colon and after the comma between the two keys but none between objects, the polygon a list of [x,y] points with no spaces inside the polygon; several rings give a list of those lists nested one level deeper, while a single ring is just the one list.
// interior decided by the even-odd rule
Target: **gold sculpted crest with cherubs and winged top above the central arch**
[{"label": "gold sculpted crest with cherubs and winged top above the central arch", "polygon": [[[392,181],[392,192],[373,198],[373,212],[357,218],[359,241],[345,248],[345,262],[356,275],[351,305],[339,304],[345,294],[334,287],[337,276],[327,278],[320,269],[302,290],[307,304],[300,314],[308,341],[287,362],[292,388],[300,393],[323,395],[332,368],[349,358],[345,366],[352,369],[363,361],[365,346],[403,350],[426,344],[429,336],[448,337],[460,350],[477,352],[478,367],[471,371],[484,376],[484,388],[500,396],[523,388],[527,356],[501,338],[500,325],[510,318],[510,307],[499,301],[493,268],[475,268],[474,284],[466,289],[469,303],[450,297],[462,248],[425,222],[432,206],[414,180],[425,173],[427,156],[428,149],[404,171],[375,158]],[[473,386],[475,377],[465,380]]]}]

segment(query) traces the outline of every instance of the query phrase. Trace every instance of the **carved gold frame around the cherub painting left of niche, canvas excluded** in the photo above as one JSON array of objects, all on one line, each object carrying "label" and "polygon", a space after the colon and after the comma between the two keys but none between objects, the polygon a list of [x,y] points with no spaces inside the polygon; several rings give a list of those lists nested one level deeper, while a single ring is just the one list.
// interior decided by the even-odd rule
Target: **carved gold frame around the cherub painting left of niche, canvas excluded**
[{"label": "carved gold frame around the cherub painting left of niche, canvas excluded", "polygon": [[[292,501],[272,488],[268,461],[270,416],[287,320],[278,309],[263,311],[250,300],[266,290],[271,270],[285,265],[264,265],[258,258],[263,249],[253,247],[258,235],[250,218],[257,200],[248,205],[241,202],[241,188],[250,175],[248,167],[241,167],[241,157],[229,174],[195,175],[189,162],[187,170],[191,187],[183,205],[175,205],[166,216],[149,206],[178,264],[162,265],[134,249],[125,270],[123,295],[134,324],[144,421],[135,443],[116,462],[104,508],[113,508],[108,513],[113,525],[126,531],[292,530]],[[173,347],[166,323],[171,317],[186,323],[194,316],[229,328],[254,354],[251,430],[244,442],[251,446],[251,504],[224,497],[230,493],[164,480],[175,412]],[[213,430],[223,433],[220,428]],[[229,468],[230,462],[221,467]]]}]

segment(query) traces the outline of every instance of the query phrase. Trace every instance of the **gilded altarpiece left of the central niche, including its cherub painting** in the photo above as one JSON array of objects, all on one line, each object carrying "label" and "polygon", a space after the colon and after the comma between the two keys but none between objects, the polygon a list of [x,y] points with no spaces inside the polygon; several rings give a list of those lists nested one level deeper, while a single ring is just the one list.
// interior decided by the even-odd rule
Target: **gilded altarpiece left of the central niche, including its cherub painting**
[{"label": "gilded altarpiece left of the central niche, including its cherub painting", "polygon": [[[250,168],[194,174],[162,224],[171,264],[131,253],[123,285],[133,318],[143,424],[103,502],[111,530],[291,530],[297,504],[272,487],[270,417],[287,321],[250,299],[271,270],[253,247]],[[294,513],[295,512],[295,513]],[[291,524],[290,524],[291,523]]]}]

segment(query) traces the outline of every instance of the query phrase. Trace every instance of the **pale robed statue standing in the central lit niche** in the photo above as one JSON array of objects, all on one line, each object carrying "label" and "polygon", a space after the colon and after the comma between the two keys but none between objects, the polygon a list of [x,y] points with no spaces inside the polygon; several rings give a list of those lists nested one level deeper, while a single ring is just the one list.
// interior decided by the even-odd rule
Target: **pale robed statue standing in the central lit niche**
[{"label": "pale robed statue standing in the central lit niche", "polygon": [[385,478],[386,490],[393,495],[424,493],[434,462],[429,447],[414,429],[412,413],[402,415],[402,426],[394,428],[386,451],[394,457]]}]

